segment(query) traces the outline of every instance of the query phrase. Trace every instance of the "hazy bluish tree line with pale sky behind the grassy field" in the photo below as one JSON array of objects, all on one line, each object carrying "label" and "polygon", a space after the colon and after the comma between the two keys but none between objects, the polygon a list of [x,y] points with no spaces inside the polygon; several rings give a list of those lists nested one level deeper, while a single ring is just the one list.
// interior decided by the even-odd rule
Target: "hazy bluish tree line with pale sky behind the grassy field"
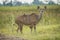
[{"label": "hazy bluish tree line with pale sky behind the grassy field", "polygon": [[56,0],[56,3],[53,0],[44,0],[44,2],[42,0],[33,0],[32,3],[28,2],[22,3],[21,1],[18,0],[2,0],[0,2],[0,6],[60,5],[60,0]]}]

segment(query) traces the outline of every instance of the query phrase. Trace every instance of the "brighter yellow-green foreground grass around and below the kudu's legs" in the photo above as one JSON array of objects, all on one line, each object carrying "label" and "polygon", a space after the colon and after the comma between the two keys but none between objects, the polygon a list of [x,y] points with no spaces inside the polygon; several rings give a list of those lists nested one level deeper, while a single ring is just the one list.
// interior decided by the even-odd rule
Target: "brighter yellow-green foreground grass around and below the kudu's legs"
[{"label": "brighter yellow-green foreground grass around and below the kudu's legs", "polygon": [[60,40],[60,25],[37,25],[36,31],[36,33],[34,31],[31,33],[29,27],[24,26],[23,34],[21,34],[20,32],[16,32],[14,26],[13,32],[10,27],[8,29],[2,29],[1,32],[9,36],[14,35],[27,40]]}]

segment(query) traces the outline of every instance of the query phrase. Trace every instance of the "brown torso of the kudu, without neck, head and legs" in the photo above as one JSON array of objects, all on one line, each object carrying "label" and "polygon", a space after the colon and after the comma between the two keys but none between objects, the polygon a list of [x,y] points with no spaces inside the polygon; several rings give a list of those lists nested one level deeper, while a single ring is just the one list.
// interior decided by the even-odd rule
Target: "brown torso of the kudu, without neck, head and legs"
[{"label": "brown torso of the kudu, without neck, head and legs", "polygon": [[32,13],[31,15],[22,15],[22,16],[18,16],[15,22],[17,24],[23,23],[25,25],[36,24],[37,17],[38,15],[36,15],[35,13]]}]

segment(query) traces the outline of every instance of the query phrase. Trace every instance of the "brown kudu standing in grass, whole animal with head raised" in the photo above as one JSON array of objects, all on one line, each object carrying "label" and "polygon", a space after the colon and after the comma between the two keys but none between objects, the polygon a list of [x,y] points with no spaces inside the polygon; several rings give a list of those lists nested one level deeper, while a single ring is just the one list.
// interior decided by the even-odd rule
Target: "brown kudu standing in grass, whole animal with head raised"
[{"label": "brown kudu standing in grass, whole animal with head raised", "polygon": [[18,25],[17,32],[18,30],[20,30],[20,32],[22,33],[23,25],[29,25],[31,32],[32,32],[32,28],[34,28],[34,31],[36,31],[36,24],[41,20],[45,8],[38,10],[39,10],[39,15],[37,15],[36,13],[32,13],[30,15],[24,14],[16,18],[15,23]]}]

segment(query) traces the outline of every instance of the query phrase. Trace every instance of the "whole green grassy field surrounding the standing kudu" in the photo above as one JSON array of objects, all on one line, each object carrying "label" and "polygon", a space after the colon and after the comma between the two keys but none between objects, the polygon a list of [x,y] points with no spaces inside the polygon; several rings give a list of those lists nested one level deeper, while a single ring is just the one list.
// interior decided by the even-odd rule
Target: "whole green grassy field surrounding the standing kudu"
[{"label": "whole green grassy field surrounding the standing kudu", "polygon": [[[43,6],[41,6],[41,8],[43,8]],[[39,13],[36,6],[0,7],[0,33],[18,36],[27,40],[60,40],[59,5],[47,5],[42,19],[36,25],[36,33],[34,30],[31,33],[29,27],[26,25],[24,25],[23,34],[16,32],[18,25],[15,24],[15,18],[18,15],[23,15],[24,13],[31,14],[33,12]]]}]

